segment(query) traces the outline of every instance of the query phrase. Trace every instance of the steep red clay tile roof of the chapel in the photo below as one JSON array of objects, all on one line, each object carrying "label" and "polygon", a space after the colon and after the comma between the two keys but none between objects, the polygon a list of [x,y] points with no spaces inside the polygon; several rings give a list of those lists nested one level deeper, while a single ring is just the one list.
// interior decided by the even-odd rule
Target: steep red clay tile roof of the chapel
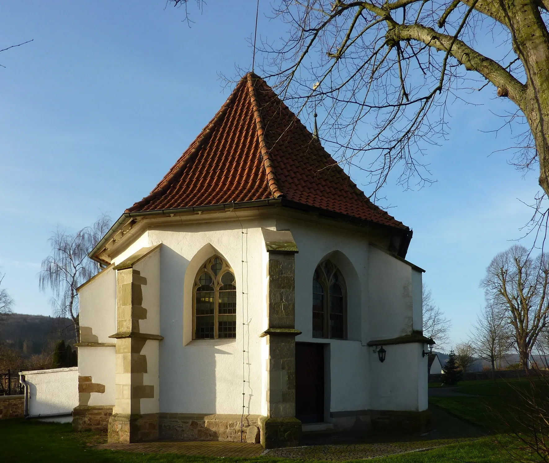
[{"label": "steep red clay tile roof of the chapel", "polygon": [[126,212],[274,198],[408,229],[372,204],[267,83],[251,73],[154,190]]}]

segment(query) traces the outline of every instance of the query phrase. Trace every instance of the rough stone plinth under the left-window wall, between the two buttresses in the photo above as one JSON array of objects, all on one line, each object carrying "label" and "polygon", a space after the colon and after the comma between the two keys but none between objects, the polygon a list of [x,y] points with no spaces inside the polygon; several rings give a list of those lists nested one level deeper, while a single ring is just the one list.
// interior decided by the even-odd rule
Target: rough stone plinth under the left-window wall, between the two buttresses
[{"label": "rough stone plinth under the left-window wall, between the two buttresses", "polygon": [[[161,439],[259,443],[260,415],[160,413]],[[255,429],[254,429],[255,428]]]}]

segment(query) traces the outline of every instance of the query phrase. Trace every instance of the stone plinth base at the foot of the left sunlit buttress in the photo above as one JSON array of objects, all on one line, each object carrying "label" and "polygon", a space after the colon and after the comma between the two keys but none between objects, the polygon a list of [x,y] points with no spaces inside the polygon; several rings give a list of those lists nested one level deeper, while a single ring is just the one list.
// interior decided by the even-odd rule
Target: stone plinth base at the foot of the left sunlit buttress
[{"label": "stone plinth base at the foot of the left sunlit buttress", "polygon": [[115,413],[109,419],[109,444],[155,441],[158,437],[158,413],[144,415]]}]

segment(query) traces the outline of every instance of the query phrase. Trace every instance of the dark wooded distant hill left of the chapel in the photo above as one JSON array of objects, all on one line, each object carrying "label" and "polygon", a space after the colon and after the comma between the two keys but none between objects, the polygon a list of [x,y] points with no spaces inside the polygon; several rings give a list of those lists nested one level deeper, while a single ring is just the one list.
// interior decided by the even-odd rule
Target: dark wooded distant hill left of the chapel
[{"label": "dark wooded distant hill left of the chapel", "polygon": [[24,358],[40,354],[44,347],[60,340],[75,340],[74,325],[69,318],[14,313],[0,324],[0,342],[19,351]]}]

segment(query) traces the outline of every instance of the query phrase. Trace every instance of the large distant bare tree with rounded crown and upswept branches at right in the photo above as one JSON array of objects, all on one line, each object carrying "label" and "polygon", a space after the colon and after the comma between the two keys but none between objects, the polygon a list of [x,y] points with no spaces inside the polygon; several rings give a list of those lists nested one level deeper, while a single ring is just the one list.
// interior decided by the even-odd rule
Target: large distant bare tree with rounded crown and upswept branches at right
[{"label": "large distant bare tree with rounded crown and upswept branches at right", "polygon": [[547,326],[548,284],[549,258],[544,253],[532,258],[519,245],[494,257],[480,284],[486,300],[505,310],[522,368],[528,368],[532,349]]}]

